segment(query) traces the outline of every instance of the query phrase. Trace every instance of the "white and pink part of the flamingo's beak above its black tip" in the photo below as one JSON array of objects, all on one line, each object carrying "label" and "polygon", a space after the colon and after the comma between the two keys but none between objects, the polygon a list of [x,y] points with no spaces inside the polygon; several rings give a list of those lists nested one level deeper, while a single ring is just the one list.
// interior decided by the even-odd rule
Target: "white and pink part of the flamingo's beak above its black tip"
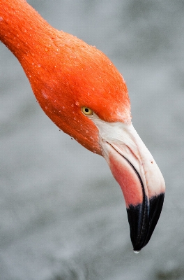
[{"label": "white and pink part of the flamingo's beak above its black tip", "polygon": [[[141,201],[139,195],[135,194],[135,197],[132,197],[133,186],[123,183],[123,178],[125,181],[133,180],[132,183],[135,183],[135,186],[139,185],[139,187],[141,179],[145,194],[149,199],[164,193],[165,183],[160,169],[133,125],[106,123],[99,119],[95,119],[93,122],[99,130],[104,158],[107,160],[114,178],[120,184],[123,194],[125,193],[126,206],[128,207],[128,204],[136,205]],[[121,169],[123,167],[125,167],[125,172]],[[131,178],[126,178],[126,172]],[[133,174],[135,174],[135,179],[132,178]],[[137,176],[138,174],[139,176]],[[138,193],[139,187],[135,187]],[[129,193],[131,197],[129,197]],[[139,197],[137,201],[136,197]]]}]

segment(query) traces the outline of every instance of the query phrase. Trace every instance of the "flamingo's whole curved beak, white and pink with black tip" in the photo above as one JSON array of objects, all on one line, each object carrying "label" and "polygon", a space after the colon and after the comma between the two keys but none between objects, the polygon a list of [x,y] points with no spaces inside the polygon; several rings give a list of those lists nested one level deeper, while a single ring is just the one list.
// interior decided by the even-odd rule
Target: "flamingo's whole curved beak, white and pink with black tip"
[{"label": "flamingo's whole curved beak, white and pink with black tip", "polygon": [[123,191],[134,251],[140,251],[162,211],[163,176],[132,124],[110,123],[98,129],[104,158]]}]

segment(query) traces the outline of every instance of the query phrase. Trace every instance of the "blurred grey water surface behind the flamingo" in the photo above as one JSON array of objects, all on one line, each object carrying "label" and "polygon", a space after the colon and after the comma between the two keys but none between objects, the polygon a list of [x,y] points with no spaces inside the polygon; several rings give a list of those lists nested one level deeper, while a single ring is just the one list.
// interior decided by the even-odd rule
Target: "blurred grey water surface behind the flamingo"
[{"label": "blurred grey water surface behind the flamingo", "polygon": [[167,193],[151,241],[135,254],[123,195],[105,160],[59,132],[1,43],[0,278],[184,279],[184,1],[29,3],[123,73],[132,122]]}]

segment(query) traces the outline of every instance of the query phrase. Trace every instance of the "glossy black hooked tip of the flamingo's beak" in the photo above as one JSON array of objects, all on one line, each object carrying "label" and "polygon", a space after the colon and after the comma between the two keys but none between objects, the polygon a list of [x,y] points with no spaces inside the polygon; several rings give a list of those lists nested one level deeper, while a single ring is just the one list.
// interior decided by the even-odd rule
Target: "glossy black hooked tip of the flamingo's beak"
[{"label": "glossy black hooked tip of the flamingo's beak", "polygon": [[136,206],[129,205],[127,213],[134,251],[140,251],[151,239],[162,211],[163,202],[164,193],[161,193],[151,197],[149,201],[145,197],[144,202]]}]

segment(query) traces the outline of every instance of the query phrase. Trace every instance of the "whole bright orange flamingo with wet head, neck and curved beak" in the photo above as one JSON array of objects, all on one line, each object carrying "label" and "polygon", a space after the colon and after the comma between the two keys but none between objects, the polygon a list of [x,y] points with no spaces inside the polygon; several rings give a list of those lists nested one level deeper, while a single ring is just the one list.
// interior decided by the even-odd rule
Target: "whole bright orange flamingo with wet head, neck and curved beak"
[{"label": "whole bright orange flamingo with wet head, neck and curved beak", "polygon": [[133,249],[140,251],[158,223],[165,184],[131,123],[123,76],[100,50],[54,29],[24,0],[0,0],[0,40],[46,115],[107,161],[123,191]]}]

